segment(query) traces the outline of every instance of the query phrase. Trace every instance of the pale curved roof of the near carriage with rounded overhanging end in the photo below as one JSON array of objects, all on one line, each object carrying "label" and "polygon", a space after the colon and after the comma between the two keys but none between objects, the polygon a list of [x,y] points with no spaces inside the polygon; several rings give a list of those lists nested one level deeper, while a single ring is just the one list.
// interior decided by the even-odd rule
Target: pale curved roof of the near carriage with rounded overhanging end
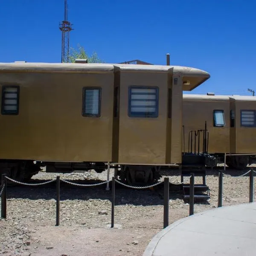
[{"label": "pale curved roof of the near carriage with rounded overhanging end", "polygon": [[[210,78],[204,70],[193,67],[141,65],[141,64],[105,64],[105,63],[0,63],[0,72],[49,72],[49,73],[102,73],[115,71],[171,73],[183,76],[183,90],[191,91]],[[189,81],[189,82],[188,82]]]}]

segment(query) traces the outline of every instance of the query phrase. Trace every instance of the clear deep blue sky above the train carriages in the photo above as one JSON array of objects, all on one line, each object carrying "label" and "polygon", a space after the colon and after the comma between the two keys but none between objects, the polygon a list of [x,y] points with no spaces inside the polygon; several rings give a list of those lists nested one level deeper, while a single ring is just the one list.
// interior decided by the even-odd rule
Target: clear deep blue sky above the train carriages
[{"label": "clear deep blue sky above the train carriages", "polygon": [[[196,67],[211,78],[191,93],[256,90],[254,0],[68,0],[71,47],[108,63],[140,59]],[[0,62],[60,62],[64,0],[0,0]]]}]

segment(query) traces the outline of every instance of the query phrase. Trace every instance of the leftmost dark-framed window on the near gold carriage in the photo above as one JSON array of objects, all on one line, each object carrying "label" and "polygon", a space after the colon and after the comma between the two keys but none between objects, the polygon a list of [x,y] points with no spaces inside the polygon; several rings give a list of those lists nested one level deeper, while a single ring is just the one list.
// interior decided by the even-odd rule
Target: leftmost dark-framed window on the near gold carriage
[{"label": "leftmost dark-framed window on the near gold carriage", "polygon": [[2,110],[3,115],[17,115],[19,113],[18,86],[3,86],[2,88]]}]

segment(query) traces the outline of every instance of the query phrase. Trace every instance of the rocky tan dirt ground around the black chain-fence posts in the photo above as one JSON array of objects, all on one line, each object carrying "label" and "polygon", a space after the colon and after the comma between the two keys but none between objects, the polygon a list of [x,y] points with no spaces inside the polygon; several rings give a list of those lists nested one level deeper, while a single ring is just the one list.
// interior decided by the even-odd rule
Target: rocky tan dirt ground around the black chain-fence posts
[{"label": "rocky tan dirt ground around the black chain-fence posts", "polygon": [[[256,170],[255,165],[253,168]],[[249,176],[236,177],[244,172],[226,171],[224,206],[248,202]],[[180,182],[178,171],[168,174],[173,175],[170,182]],[[57,175],[42,171],[32,179],[42,182]],[[91,171],[60,176],[67,180],[100,182],[106,180],[107,173]],[[201,183],[201,179],[195,177],[195,183]],[[211,198],[196,203],[195,213],[217,207],[218,169],[207,171],[207,185]],[[111,191],[102,186],[81,188],[61,183],[58,227],[55,226],[54,186],[8,187],[7,198],[7,219],[0,220],[0,255],[4,256],[141,256],[151,238],[163,228],[163,186],[148,190],[117,187],[114,228],[110,228]],[[169,198],[169,224],[189,215],[189,205],[183,201],[181,191],[171,190]]]}]

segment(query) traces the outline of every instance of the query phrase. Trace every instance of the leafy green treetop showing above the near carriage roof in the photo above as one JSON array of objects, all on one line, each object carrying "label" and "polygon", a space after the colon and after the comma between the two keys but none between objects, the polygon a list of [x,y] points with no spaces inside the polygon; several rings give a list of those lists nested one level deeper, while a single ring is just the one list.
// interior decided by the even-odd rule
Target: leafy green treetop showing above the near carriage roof
[{"label": "leafy green treetop showing above the near carriage roof", "polygon": [[78,44],[78,49],[70,48],[69,61],[71,63],[75,62],[75,59],[87,59],[88,63],[105,63],[102,59],[100,59],[96,52],[93,51],[92,55],[89,55],[84,47]]}]

